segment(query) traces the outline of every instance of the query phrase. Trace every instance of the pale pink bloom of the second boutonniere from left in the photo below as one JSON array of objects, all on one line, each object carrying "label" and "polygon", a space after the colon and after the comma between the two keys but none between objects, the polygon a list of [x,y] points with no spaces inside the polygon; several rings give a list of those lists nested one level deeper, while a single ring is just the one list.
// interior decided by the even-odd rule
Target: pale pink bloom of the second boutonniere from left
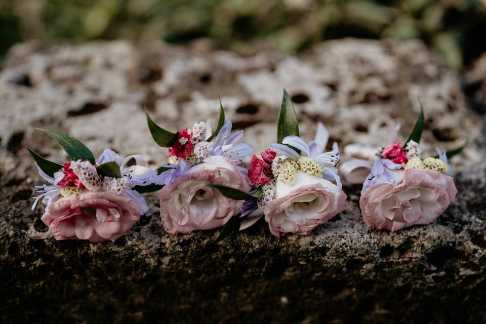
[{"label": "pale pink bloom of the second boutonniere from left", "polygon": [[243,200],[223,196],[208,183],[249,192],[250,185],[236,164],[224,156],[209,156],[203,163],[160,189],[160,216],[168,233],[190,233],[223,226],[237,214]]}]

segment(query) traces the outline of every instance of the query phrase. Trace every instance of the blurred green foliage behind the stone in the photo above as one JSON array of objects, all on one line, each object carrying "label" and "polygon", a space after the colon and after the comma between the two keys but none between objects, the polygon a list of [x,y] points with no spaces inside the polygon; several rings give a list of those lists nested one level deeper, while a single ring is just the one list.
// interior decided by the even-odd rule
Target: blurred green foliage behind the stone
[{"label": "blurred green foliage behind the stone", "polygon": [[461,68],[486,51],[485,32],[479,0],[0,0],[0,60],[27,39],[211,37],[238,52],[265,39],[297,52],[347,36],[418,37]]}]

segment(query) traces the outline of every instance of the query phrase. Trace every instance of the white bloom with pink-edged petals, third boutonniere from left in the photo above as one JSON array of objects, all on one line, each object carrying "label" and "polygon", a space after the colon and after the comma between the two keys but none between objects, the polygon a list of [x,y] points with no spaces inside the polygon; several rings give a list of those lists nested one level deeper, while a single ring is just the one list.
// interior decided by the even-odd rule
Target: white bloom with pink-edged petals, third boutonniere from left
[{"label": "white bloom with pink-edged petals, third boutonniere from left", "polygon": [[343,210],[346,194],[334,183],[298,171],[290,186],[277,181],[275,199],[265,208],[265,220],[275,236],[307,235]]}]

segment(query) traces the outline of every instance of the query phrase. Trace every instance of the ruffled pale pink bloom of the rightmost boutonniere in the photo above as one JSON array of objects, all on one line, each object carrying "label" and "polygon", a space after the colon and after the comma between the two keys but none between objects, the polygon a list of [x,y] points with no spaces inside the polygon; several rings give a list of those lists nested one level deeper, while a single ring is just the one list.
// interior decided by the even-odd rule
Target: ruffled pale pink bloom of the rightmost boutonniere
[{"label": "ruffled pale pink bloom of the rightmost boutonniere", "polygon": [[454,201],[454,179],[430,169],[393,170],[396,184],[377,183],[363,192],[359,207],[368,226],[392,232],[435,221]]}]

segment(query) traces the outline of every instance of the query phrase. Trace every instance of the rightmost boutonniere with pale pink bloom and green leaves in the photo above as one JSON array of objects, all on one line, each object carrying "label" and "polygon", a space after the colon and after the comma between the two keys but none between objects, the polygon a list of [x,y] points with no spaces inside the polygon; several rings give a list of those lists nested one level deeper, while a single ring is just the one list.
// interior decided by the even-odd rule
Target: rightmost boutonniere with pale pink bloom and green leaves
[{"label": "rightmost boutonniere with pale pink bloom and green leaves", "polygon": [[430,224],[454,201],[457,189],[448,157],[460,153],[465,144],[448,152],[437,148],[436,156],[424,157],[419,145],[423,127],[421,109],[406,141],[392,142],[376,152],[359,198],[368,226],[394,232]]}]

